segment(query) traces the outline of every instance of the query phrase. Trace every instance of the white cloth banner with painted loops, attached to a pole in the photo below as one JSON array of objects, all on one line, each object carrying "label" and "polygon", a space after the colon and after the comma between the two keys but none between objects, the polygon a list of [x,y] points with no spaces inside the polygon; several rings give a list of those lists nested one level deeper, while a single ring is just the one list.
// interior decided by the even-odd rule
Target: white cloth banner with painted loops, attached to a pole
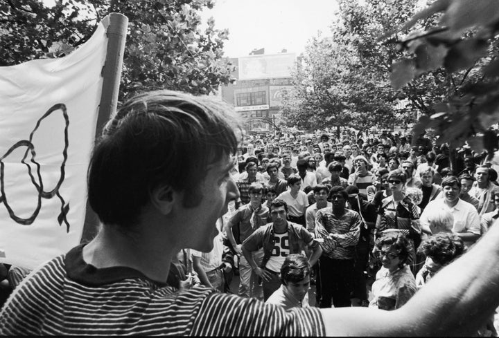
[{"label": "white cloth banner with painted loops, attached to a pole", "polygon": [[108,20],[70,55],[0,67],[0,262],[33,268],[80,243]]}]

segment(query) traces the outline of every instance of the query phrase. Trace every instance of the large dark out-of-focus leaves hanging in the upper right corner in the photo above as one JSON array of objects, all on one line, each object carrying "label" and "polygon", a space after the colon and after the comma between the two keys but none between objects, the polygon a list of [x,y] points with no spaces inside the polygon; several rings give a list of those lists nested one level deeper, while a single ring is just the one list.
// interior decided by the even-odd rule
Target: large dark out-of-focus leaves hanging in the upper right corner
[{"label": "large dark out-of-focus leaves hanging in the upper right corner", "polygon": [[[446,103],[435,104],[428,111],[431,118],[423,115],[416,130],[432,128],[439,143],[459,146],[469,140],[483,149],[482,134],[499,122],[499,1],[442,0],[422,13],[438,10],[445,11],[440,24],[394,41],[405,56],[392,66],[392,86],[405,90],[433,77],[446,88]],[[402,27],[414,26],[424,15],[415,15]]]}]

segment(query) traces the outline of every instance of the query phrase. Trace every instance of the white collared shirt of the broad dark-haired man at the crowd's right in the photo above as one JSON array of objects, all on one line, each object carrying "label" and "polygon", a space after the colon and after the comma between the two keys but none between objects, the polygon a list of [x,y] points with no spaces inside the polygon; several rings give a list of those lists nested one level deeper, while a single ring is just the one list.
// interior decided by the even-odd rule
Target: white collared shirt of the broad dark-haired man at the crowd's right
[{"label": "white collared shirt of the broad dark-haired man at the crowd's right", "polygon": [[[438,214],[443,210],[447,210],[454,216],[453,232],[471,232],[472,234],[480,235],[480,216],[475,207],[470,203],[464,202],[461,198],[453,207],[448,207],[445,203],[445,198],[437,198],[432,200],[421,214],[419,221],[421,226],[430,226],[429,218],[432,215]],[[464,243],[471,245],[472,243]]]}]

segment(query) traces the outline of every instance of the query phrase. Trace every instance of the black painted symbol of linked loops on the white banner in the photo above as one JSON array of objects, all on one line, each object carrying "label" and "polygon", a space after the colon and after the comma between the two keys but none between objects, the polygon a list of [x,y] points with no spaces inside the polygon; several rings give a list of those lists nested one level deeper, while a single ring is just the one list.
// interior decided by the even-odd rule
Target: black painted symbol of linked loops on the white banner
[{"label": "black painted symbol of linked loops on the white banner", "polygon": [[[58,115],[60,113],[60,115]],[[37,156],[40,158],[41,154],[36,153],[35,149],[35,141],[33,138],[36,137],[37,131],[40,133],[42,130],[43,131],[50,131],[53,126],[49,125],[49,122],[47,122],[46,119],[48,119],[51,116],[51,119],[53,118],[62,118],[64,121],[60,120],[64,124],[64,147],[62,148],[62,160],[60,164],[57,165],[58,169],[55,169],[56,176],[58,177],[53,177],[52,173],[44,173],[42,170],[42,167],[40,166],[40,163],[37,162]],[[44,121],[45,120],[45,121]],[[45,122],[45,123],[42,123]],[[40,126],[43,126],[43,128],[40,128]],[[14,220],[16,223],[21,224],[21,225],[31,225],[37,218],[38,214],[40,213],[40,209],[42,208],[42,198],[45,199],[51,199],[54,196],[57,196],[60,200],[61,207],[60,207],[60,214],[58,216],[58,223],[59,225],[62,225],[64,223],[66,225],[66,230],[69,232],[69,222],[67,220],[67,214],[69,212],[69,203],[66,203],[64,201],[64,198],[60,194],[60,186],[62,185],[62,182],[64,182],[65,178],[65,166],[66,166],[66,161],[67,161],[67,149],[69,145],[69,139],[68,139],[68,127],[69,127],[69,117],[67,114],[67,109],[65,104],[55,104],[54,106],[51,107],[44,115],[42,118],[40,118],[36,125],[35,129],[30,133],[29,140],[20,140],[16,142],[8,151],[0,157],[0,203],[3,203],[5,205],[10,218]],[[55,129],[54,129],[55,130]],[[41,144],[38,144],[40,147]],[[28,217],[21,217],[16,214],[14,209],[12,208],[12,200],[10,198],[12,197],[10,194],[12,191],[10,189],[14,188],[8,188],[6,189],[6,163],[9,163],[9,165],[16,166],[19,165],[19,162],[13,163],[15,161],[15,155],[14,153],[21,153],[21,160],[19,161],[22,165],[26,166],[27,173],[31,182],[31,186],[29,189],[34,189],[33,194],[37,194],[36,198],[36,207],[33,210],[33,213],[30,214]],[[9,157],[10,156],[10,157]],[[60,168],[59,168],[60,167]],[[59,169],[60,169],[60,174],[59,174]],[[28,178],[26,176],[26,179]],[[46,178],[46,182],[44,183],[42,178]],[[50,178],[47,180],[47,178]],[[47,182],[49,181],[49,182]],[[55,185],[53,182],[57,181]],[[7,191],[8,190],[8,191]]]}]

